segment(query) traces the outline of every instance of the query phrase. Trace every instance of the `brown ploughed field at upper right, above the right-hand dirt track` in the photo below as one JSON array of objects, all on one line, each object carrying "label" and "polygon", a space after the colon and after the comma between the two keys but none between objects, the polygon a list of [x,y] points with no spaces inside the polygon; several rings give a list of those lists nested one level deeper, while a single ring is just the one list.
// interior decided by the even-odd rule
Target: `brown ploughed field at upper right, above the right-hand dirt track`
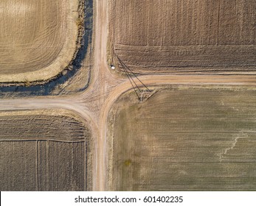
[{"label": "brown ploughed field at upper right, above the right-hand dirt track", "polygon": [[114,1],[111,63],[138,73],[255,71],[255,0]]}]

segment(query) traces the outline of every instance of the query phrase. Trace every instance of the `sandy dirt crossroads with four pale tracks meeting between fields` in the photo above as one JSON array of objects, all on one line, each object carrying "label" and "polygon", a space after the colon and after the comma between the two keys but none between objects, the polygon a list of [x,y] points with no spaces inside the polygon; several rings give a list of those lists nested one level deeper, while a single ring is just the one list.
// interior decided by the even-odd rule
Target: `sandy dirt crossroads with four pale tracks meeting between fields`
[{"label": "sandy dirt crossroads with four pale tracks meeting between fields", "polygon": [[[105,190],[105,132],[108,111],[113,102],[131,89],[128,79],[116,77],[109,71],[106,59],[107,0],[95,1],[94,18],[94,68],[91,85],[83,93],[62,97],[28,99],[1,99],[0,110],[33,110],[63,108],[80,114],[89,123],[95,142],[94,191]],[[256,77],[223,75],[148,75],[141,77],[147,85],[256,85]]]}]

